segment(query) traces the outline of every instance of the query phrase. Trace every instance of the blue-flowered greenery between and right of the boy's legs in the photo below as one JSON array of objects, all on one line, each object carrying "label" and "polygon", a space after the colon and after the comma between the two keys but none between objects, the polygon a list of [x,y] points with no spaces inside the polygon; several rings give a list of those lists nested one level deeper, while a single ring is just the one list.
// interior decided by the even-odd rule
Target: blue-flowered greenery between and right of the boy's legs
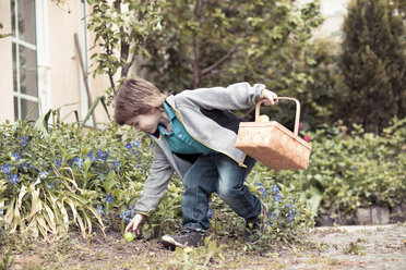
[{"label": "blue-flowered greenery between and right of the boy's legs", "polygon": [[[310,212],[298,199],[300,195],[297,188],[294,185],[276,182],[268,168],[258,162],[247,177],[246,185],[268,208],[266,217],[261,217],[264,221],[264,230],[258,232],[263,237],[255,245],[256,247],[261,246],[266,249],[275,242],[297,241],[301,232],[313,226]],[[217,195],[211,197],[207,218],[211,221],[211,230],[216,235],[229,236],[231,242],[235,242],[235,238],[246,230],[244,220],[226,206]],[[248,246],[243,248],[249,248]]]}]

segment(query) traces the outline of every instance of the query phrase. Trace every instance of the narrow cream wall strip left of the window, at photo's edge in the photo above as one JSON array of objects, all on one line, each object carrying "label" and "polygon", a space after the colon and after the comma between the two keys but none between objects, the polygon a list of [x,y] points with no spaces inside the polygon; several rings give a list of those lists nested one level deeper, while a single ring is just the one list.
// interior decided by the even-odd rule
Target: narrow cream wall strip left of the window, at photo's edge
[{"label": "narrow cream wall strip left of the window, at photo's edge", "polygon": [[[0,1],[0,34],[11,33],[10,1]],[[0,38],[0,123],[14,119],[11,37]]]}]

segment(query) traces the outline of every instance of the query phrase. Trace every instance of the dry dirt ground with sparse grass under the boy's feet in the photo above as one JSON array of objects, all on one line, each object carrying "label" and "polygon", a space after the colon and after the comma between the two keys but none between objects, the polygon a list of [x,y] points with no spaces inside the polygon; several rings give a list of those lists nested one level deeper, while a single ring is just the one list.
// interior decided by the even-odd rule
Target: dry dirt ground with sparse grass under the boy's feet
[{"label": "dry dirt ground with sparse grass under the boy's feet", "polygon": [[315,228],[304,240],[262,255],[231,248],[179,255],[157,241],[128,243],[110,232],[106,238],[22,243],[7,258],[0,253],[0,269],[4,258],[4,269],[406,269],[406,223]]}]

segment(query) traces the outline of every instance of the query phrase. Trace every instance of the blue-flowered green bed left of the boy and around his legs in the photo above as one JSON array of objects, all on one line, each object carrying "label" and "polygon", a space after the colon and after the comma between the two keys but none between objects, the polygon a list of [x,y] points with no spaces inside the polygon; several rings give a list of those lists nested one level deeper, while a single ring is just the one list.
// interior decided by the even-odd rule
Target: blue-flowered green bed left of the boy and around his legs
[{"label": "blue-flowered green bed left of the boy and around his legs", "polygon": [[[153,160],[148,137],[115,124],[98,131],[83,130],[77,123],[33,126],[7,122],[0,125],[0,226],[11,233],[45,237],[68,233],[72,226],[84,236],[94,225],[122,232],[135,214],[134,205]],[[298,224],[308,218],[292,188],[276,185],[261,165],[247,183],[270,205],[270,229],[284,232],[283,237],[296,234]],[[180,229],[182,192],[175,176],[156,211],[144,222],[144,237]],[[218,198],[211,207],[215,209],[211,210],[216,217],[214,228],[220,234],[232,226],[219,228],[215,220],[223,222],[226,217],[231,224],[243,225]]]}]

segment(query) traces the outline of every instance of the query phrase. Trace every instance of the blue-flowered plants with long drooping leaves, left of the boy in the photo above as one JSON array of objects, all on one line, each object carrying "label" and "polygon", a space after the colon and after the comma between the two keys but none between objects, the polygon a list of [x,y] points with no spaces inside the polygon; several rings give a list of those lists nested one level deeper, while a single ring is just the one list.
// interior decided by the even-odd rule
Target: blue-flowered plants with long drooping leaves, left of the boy
[{"label": "blue-flowered plants with long drooping leaves, left of the boy", "polygon": [[[41,124],[41,123],[40,123]],[[136,137],[138,136],[138,137]],[[120,220],[140,197],[151,142],[111,124],[103,131],[24,121],[0,125],[0,222],[28,235],[83,235]]]}]

